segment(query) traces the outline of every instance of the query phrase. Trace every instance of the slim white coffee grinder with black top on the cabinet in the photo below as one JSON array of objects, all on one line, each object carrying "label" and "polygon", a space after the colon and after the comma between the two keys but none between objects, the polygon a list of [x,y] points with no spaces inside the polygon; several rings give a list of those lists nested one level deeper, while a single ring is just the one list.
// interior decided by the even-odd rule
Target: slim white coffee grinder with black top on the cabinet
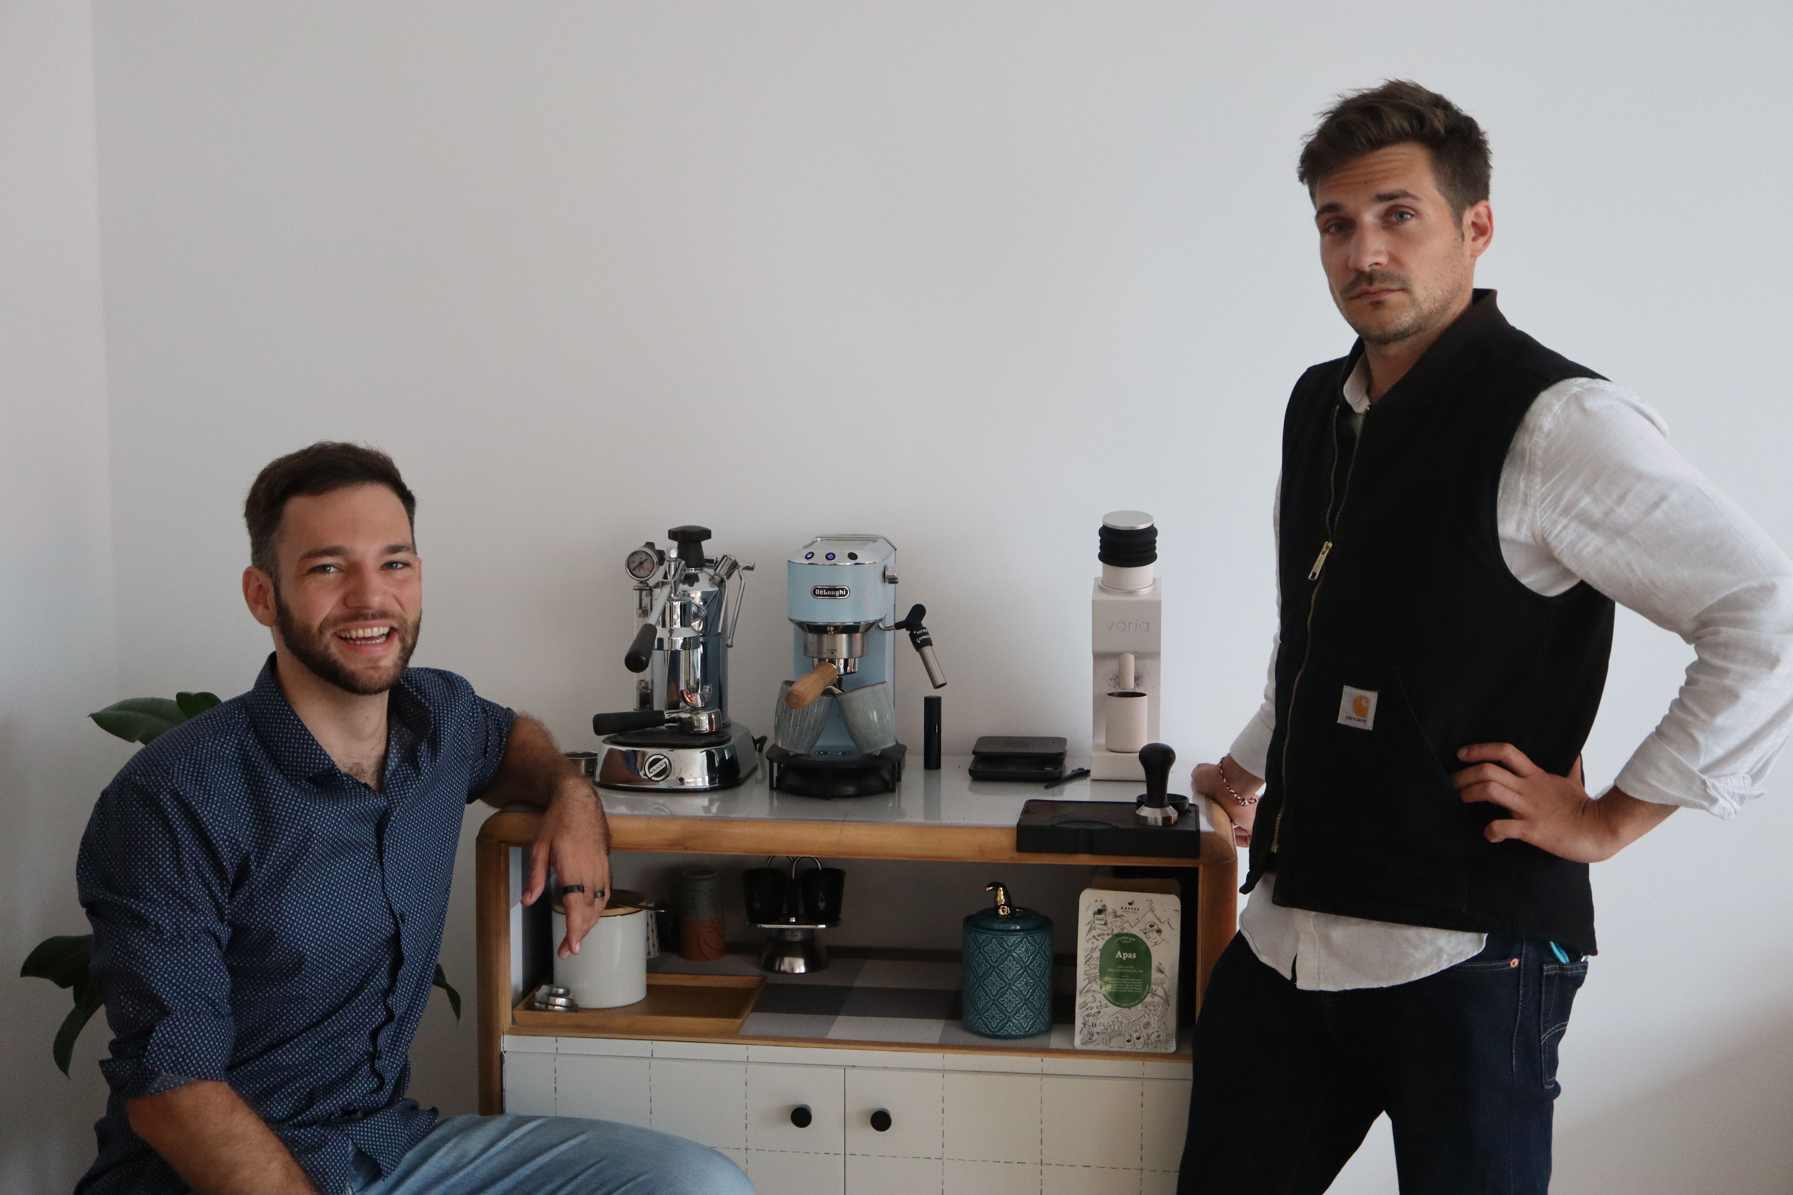
[{"label": "slim white coffee grinder with black top on the cabinet", "polygon": [[1103,575],[1090,597],[1094,731],[1090,779],[1144,779],[1139,749],[1158,742],[1164,582],[1158,529],[1144,511],[1103,516]]}]

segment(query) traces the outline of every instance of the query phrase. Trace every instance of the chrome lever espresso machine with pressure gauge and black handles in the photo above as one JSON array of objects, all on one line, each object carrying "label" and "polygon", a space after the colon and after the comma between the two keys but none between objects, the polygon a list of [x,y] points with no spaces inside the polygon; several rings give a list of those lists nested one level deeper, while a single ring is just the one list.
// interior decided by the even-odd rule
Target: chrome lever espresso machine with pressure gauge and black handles
[{"label": "chrome lever espresso machine with pressure gauge and black handles", "polygon": [[640,625],[622,665],[640,675],[637,708],[599,713],[597,783],[606,788],[733,788],[758,767],[753,733],[728,718],[728,649],[746,573],[732,555],[706,557],[708,527],[674,527],[669,554],[653,541],[629,554]]}]

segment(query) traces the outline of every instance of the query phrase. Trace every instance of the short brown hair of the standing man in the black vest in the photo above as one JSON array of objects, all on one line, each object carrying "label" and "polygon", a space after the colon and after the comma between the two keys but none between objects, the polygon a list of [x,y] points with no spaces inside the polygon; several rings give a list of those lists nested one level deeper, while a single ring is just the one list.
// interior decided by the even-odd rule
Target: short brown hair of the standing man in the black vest
[{"label": "short brown hair of the standing man in the black vest", "polygon": [[1460,219],[1465,208],[1488,197],[1494,161],[1481,125],[1445,97],[1408,79],[1347,91],[1320,113],[1320,127],[1302,145],[1296,177],[1312,197],[1320,181],[1347,161],[1406,142],[1431,150],[1438,192]]}]

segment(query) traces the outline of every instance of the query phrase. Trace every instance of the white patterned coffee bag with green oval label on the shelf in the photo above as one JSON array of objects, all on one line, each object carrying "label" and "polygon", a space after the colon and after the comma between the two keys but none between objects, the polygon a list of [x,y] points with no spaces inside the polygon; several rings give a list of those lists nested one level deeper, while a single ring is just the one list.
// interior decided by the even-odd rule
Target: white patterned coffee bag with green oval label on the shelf
[{"label": "white patterned coffee bag with green oval label on the shelf", "polygon": [[1165,892],[1085,889],[1078,901],[1081,1050],[1176,1050],[1183,901]]}]

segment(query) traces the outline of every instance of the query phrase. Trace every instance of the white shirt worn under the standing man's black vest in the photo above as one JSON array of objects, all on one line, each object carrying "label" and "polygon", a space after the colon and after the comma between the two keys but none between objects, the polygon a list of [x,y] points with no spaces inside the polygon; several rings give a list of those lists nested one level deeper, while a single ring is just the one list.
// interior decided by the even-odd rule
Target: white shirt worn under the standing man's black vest
[{"label": "white shirt worn under the standing man's black vest", "polygon": [[[1368,365],[1345,382],[1361,425]],[[1280,523],[1280,486],[1277,516]],[[1763,792],[1793,718],[1793,561],[1669,446],[1667,426],[1612,382],[1569,378],[1520,421],[1501,469],[1501,557],[1546,597],[1587,580],[1680,634],[1694,661],[1614,787],[1732,817]],[[1232,758],[1268,776],[1277,650],[1257,717]],[[1284,908],[1266,873],[1239,928],[1264,964],[1307,991],[1391,987],[1481,953],[1485,933]]]}]

